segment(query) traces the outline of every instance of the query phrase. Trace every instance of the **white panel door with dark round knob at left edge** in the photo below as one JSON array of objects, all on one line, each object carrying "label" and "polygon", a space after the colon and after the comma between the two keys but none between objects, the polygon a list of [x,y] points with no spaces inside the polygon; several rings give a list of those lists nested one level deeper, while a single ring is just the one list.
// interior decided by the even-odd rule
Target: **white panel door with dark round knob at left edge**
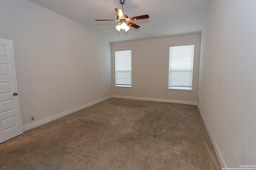
[{"label": "white panel door with dark round knob at left edge", "polygon": [[12,40],[0,38],[0,143],[23,133]]}]

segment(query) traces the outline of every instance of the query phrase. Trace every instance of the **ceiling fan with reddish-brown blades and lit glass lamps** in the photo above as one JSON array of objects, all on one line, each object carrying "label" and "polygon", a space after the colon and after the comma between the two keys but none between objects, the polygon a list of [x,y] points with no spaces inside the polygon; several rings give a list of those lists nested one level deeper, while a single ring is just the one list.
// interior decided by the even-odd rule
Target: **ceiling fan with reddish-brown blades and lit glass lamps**
[{"label": "ceiling fan with reddish-brown blades and lit glass lamps", "polygon": [[118,31],[120,31],[120,29],[124,29],[125,31],[128,31],[130,29],[130,27],[128,27],[128,25],[138,29],[140,26],[136,25],[135,23],[132,23],[130,21],[146,19],[146,18],[149,18],[149,16],[143,15],[143,16],[136,16],[136,17],[129,18],[127,15],[123,14],[124,2],[125,2],[125,0],[120,0],[120,4],[122,4],[122,10],[115,8],[116,13],[118,15],[116,20],[95,20],[95,21],[117,21],[118,23],[116,25],[114,25],[114,27],[112,27],[111,29],[116,28]]}]

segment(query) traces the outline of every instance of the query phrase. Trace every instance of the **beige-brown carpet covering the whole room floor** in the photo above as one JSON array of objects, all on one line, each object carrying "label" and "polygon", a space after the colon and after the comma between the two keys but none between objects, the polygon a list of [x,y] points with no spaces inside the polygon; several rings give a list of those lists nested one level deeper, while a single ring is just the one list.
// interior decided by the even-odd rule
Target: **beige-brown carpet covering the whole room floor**
[{"label": "beige-brown carpet covering the whole room floor", "polygon": [[196,106],[111,98],[0,144],[0,169],[221,168]]}]

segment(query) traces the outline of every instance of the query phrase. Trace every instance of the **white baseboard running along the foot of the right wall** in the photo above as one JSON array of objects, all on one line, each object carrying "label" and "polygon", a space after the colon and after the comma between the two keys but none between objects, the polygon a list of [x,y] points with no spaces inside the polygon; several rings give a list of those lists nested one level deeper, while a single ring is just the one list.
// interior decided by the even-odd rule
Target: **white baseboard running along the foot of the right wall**
[{"label": "white baseboard running along the foot of the right wall", "polygon": [[212,135],[211,135],[210,129],[209,129],[209,127],[208,127],[208,124],[206,123],[206,120],[204,119],[204,114],[203,114],[203,112],[202,112],[202,110],[200,109],[200,106],[199,106],[198,104],[197,104],[197,108],[198,108],[198,110],[199,110],[199,112],[200,112],[200,115],[201,115],[203,121],[204,121],[204,126],[206,127],[207,133],[208,133],[208,135],[209,135],[209,137],[210,137],[210,140],[211,140],[211,142],[212,142],[212,146],[213,146],[213,148],[214,148],[214,150],[215,150],[215,153],[216,153],[216,155],[217,155],[217,158],[218,158],[218,160],[219,160],[219,162],[220,162],[220,166],[221,166],[222,168],[226,168],[226,169],[227,169],[228,167],[226,166],[226,163],[225,163],[225,161],[224,161],[224,159],[223,159],[223,157],[222,157],[222,155],[221,155],[221,153],[220,153],[220,149],[218,148],[217,143],[215,142],[214,138],[213,138]]}]

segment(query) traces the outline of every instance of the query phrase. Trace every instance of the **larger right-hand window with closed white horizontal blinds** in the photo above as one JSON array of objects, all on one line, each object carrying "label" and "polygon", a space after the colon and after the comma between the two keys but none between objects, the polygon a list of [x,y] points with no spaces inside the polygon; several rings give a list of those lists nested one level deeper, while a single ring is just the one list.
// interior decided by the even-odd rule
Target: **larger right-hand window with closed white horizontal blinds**
[{"label": "larger right-hand window with closed white horizontal blinds", "polygon": [[194,45],[170,47],[168,89],[192,90]]}]

